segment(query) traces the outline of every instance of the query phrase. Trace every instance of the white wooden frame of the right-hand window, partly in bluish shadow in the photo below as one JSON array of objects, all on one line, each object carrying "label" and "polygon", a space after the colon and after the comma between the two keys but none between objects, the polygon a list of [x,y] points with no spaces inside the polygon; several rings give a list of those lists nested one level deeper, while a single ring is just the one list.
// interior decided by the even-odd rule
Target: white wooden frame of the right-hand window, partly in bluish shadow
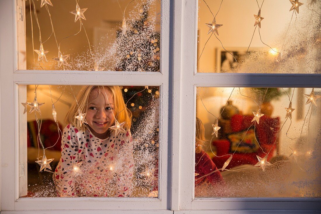
[{"label": "white wooden frame of the right-hand window, partly in bluish shadow", "polygon": [[[320,198],[194,198],[196,87],[321,87],[320,74],[242,74],[197,73],[198,0],[181,1],[175,6],[182,12],[175,16],[181,31],[179,160],[173,177],[178,177],[178,201],[172,202],[174,213],[312,213],[321,210]],[[175,65],[174,65],[175,66]],[[176,103],[174,102],[175,106]],[[193,106],[193,107],[192,107]],[[192,155],[193,154],[193,155]],[[174,167],[173,167],[174,168]],[[173,196],[172,196],[173,197]],[[214,211],[216,210],[216,211]],[[245,211],[246,210],[246,211]]]}]

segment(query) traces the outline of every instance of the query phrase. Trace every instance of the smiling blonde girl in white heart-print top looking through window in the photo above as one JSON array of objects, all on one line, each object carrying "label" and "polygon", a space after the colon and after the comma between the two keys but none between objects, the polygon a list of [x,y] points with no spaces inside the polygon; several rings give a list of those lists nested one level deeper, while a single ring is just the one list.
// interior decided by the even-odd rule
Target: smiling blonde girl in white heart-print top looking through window
[{"label": "smiling blonde girl in white heart-print top looking through window", "polygon": [[129,197],[131,112],[119,86],[83,86],[69,109],[54,183],[59,196]]}]

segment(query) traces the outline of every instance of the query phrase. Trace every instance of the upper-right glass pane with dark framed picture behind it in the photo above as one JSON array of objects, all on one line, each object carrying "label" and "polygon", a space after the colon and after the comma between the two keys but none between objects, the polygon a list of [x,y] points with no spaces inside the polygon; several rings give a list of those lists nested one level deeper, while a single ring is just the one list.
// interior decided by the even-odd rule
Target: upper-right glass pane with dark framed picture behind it
[{"label": "upper-right glass pane with dark framed picture behind it", "polygon": [[320,73],[321,2],[302,3],[198,0],[197,72]]}]

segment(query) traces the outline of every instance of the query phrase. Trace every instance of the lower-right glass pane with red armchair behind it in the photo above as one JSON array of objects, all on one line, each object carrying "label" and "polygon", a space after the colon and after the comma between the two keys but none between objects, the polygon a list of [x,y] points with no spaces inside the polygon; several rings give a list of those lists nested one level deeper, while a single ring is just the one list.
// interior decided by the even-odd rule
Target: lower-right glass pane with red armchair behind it
[{"label": "lower-right glass pane with red armchair behind it", "polygon": [[195,197],[321,197],[320,88],[197,88]]}]

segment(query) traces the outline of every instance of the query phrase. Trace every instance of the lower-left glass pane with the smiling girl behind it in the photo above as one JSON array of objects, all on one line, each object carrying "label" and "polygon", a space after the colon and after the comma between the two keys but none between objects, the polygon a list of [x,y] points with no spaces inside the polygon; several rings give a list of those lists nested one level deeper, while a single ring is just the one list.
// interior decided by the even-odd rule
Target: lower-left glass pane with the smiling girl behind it
[{"label": "lower-left glass pane with the smiling girl behind it", "polygon": [[27,85],[22,103],[26,197],[158,197],[158,86],[38,85],[36,100],[34,92]]}]

